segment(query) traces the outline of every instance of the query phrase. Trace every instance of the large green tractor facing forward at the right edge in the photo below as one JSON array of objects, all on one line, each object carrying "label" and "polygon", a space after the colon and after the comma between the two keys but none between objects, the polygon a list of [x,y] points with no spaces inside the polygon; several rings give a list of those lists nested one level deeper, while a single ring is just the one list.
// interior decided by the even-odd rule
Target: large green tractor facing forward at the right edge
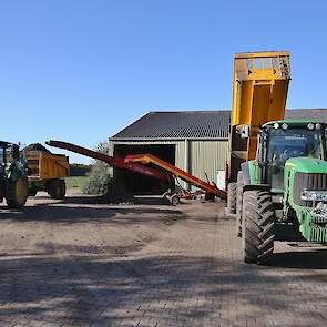
[{"label": "large green tractor facing forward at the right edge", "polygon": [[269,260],[278,231],[286,241],[298,234],[327,243],[326,131],[311,120],[260,127],[256,159],[237,175],[236,233],[246,263]]}]

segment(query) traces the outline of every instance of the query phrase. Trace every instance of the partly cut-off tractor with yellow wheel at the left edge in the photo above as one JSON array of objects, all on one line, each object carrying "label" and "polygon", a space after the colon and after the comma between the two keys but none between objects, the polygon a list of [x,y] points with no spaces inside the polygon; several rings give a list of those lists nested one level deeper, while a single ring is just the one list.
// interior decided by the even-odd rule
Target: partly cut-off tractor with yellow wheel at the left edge
[{"label": "partly cut-off tractor with yellow wheel at the left edge", "polygon": [[28,200],[28,165],[19,146],[0,141],[0,202],[20,208]]}]

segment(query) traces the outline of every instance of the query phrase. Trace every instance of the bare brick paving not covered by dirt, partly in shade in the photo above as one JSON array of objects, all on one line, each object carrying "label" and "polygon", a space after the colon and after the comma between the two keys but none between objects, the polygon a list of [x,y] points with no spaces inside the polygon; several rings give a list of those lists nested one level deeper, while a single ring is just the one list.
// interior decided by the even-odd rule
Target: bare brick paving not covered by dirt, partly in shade
[{"label": "bare brick paving not covered by dirt, partly in shade", "polygon": [[0,256],[0,326],[326,326],[324,248],[277,243],[270,266],[245,265],[223,204],[178,210],[124,255]]}]

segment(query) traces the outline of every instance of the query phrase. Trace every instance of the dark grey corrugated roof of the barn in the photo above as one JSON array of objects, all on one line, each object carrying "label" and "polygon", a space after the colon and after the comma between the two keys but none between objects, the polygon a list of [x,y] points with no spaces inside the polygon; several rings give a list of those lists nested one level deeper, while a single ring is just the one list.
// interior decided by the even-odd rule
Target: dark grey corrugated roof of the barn
[{"label": "dark grey corrugated roof of the barn", "polygon": [[[313,117],[327,123],[327,109],[287,110],[287,119]],[[111,140],[219,140],[228,137],[229,110],[150,112]]]}]

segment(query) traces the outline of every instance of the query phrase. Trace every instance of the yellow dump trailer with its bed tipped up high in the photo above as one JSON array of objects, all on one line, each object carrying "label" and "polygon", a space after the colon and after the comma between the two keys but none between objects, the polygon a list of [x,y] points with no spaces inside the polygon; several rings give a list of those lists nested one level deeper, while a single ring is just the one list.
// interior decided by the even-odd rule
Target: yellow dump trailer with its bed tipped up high
[{"label": "yellow dump trailer with its bed tipped up high", "polygon": [[289,53],[236,53],[226,167],[227,210],[236,213],[241,164],[256,156],[260,125],[283,120],[290,80]]}]

